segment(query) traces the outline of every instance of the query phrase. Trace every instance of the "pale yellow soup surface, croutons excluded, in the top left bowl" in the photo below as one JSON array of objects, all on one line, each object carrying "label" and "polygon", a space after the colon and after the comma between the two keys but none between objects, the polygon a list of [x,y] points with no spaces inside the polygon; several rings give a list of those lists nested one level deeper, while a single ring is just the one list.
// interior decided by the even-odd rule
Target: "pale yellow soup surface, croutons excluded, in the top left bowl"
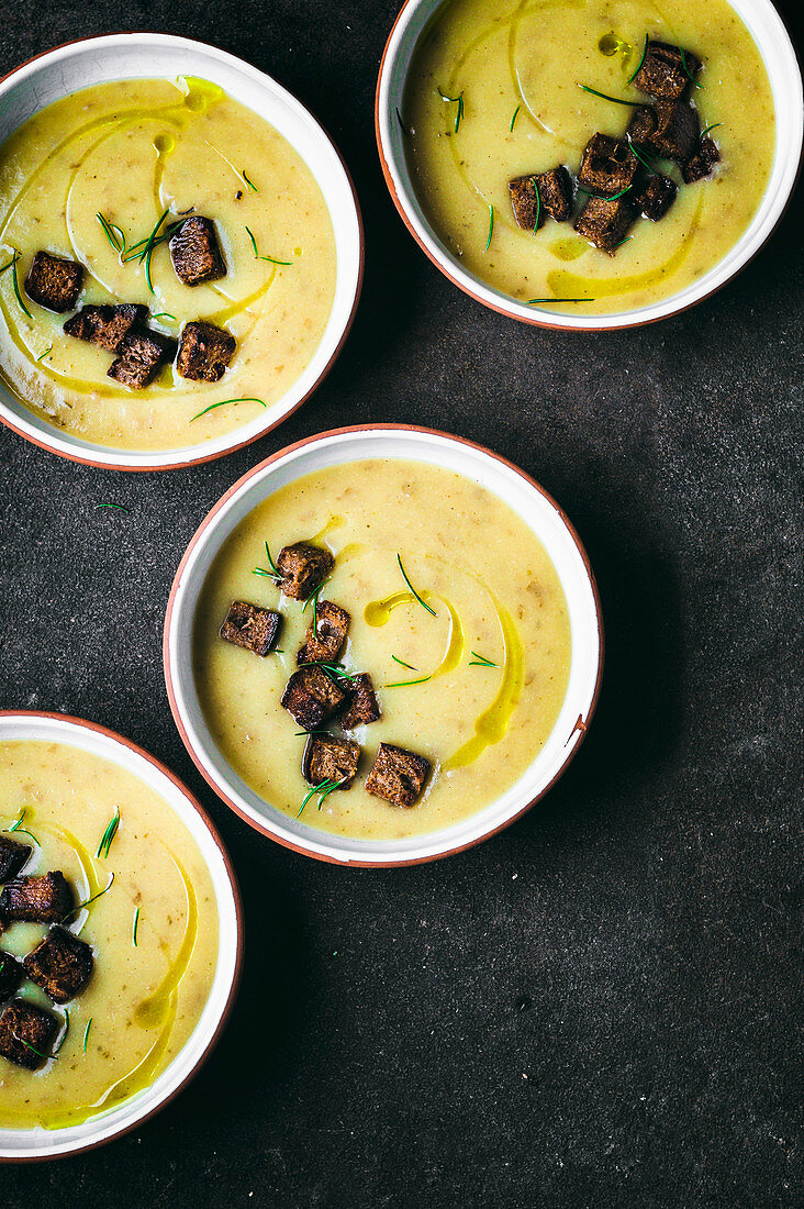
[{"label": "pale yellow soup surface, croutons excluded, in the top left bowl", "polygon": [[[151,258],[151,291],[145,264],[125,262],[98,221],[103,214],[132,248],[164,210],[161,230],[191,207],[214,221],[227,266],[225,277],[195,287],[179,280],[164,242]],[[65,335],[66,314],[25,296],[39,249],[85,266],[79,305],[145,303],[151,326],[172,337],[189,320],[225,328],[237,349],[224,377],[193,382],[167,365],[141,391],[109,378],[112,353]],[[30,318],[7,270],[0,274],[2,380],[73,436],[127,450],[195,445],[270,418],[312,360],[335,291],[332,225],[301,156],[215,85],[184,77],[74,93],[0,147],[0,266],[15,251]],[[193,418],[227,399],[266,406],[226,404]]]}]

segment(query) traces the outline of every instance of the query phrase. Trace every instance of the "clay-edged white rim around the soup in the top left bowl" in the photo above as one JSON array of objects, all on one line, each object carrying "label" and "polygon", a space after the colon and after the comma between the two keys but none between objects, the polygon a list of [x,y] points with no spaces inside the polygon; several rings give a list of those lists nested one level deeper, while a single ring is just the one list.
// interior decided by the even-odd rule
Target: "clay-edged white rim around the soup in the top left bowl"
[{"label": "clay-edged white rim around the soup in the top left bowl", "polygon": [[[28,59],[25,63],[22,63],[7,75],[2,76],[2,79],[0,79],[0,105],[4,103],[4,97],[12,88],[15,88],[21,80],[35,77],[37,73],[42,71],[45,68],[50,68],[53,63],[59,63],[71,56],[81,54],[86,48],[91,50],[93,56],[97,57],[104,53],[125,50],[126,47],[131,47],[133,45],[141,48],[144,57],[148,54],[149,46],[175,50],[177,53],[183,54],[180,62],[185,68],[185,70],[180,70],[177,74],[193,74],[190,69],[190,63],[192,57],[196,56],[206,63],[212,58],[221,66],[229,70],[238,71],[241,75],[245,75],[255,87],[262,87],[265,89],[267,104],[265,110],[260,111],[260,116],[268,122],[271,121],[268,110],[272,105],[278,103],[287,105],[300,121],[308,126],[312,137],[317,140],[317,146],[320,149],[322,157],[325,157],[330,152],[335,157],[335,162],[329,166],[322,163],[313,166],[308,161],[306,162],[322,189],[322,193],[324,193],[324,201],[328,209],[329,201],[326,192],[329,191],[329,185],[326,183],[331,181],[332,187],[337,189],[342,195],[340,198],[342,203],[342,213],[339,212],[339,215],[336,215],[330,209],[330,216],[332,218],[334,227],[336,226],[336,222],[346,224],[343,242],[353,245],[348,256],[345,256],[339,251],[335,299],[332,301],[332,308],[322,343],[313,354],[314,360],[319,357],[320,349],[324,348],[323,355],[325,357],[325,361],[322,364],[316,378],[306,386],[303,384],[303,378],[307,375],[307,368],[302,371],[299,380],[285,393],[283,400],[278,400],[277,404],[273,404],[268,409],[268,412],[273,418],[266,417],[262,420],[258,416],[250,423],[235,428],[225,436],[219,436],[196,446],[138,452],[135,450],[121,450],[111,446],[93,445],[89,441],[60,434],[56,427],[52,427],[51,429],[51,426],[47,426],[45,421],[40,421],[34,412],[29,411],[24,406],[24,404],[16,400],[8,388],[0,382],[0,423],[4,423],[7,428],[11,428],[19,436],[23,436],[31,444],[37,445],[40,449],[48,450],[51,453],[57,453],[59,457],[69,458],[71,462],[79,462],[83,465],[93,465],[112,470],[170,470],[181,469],[189,465],[201,465],[204,462],[215,461],[219,457],[224,457],[226,453],[232,453],[235,450],[250,445],[253,441],[259,440],[283,423],[318,389],[337,360],[354,320],[363,287],[365,241],[363,219],[360,215],[360,207],[354,190],[354,184],[352,183],[352,178],[343,157],[322,123],[288,88],[284,88],[271,76],[266,75],[264,71],[259,71],[244,59],[229,54],[226,51],[220,50],[212,42],[202,42],[199,40],[179,37],[173,34],[157,34],[148,30],[104,34],[99,37],[74,39],[73,41],[64,42],[51,51],[45,51],[41,54],[34,56],[34,58]],[[209,71],[207,70],[206,74],[209,75]],[[145,75],[148,75],[148,73],[145,73]],[[125,77],[134,79],[131,74]],[[96,81],[88,81],[87,86],[93,82]],[[235,96],[236,100],[238,99],[235,92],[232,92],[232,96]],[[336,233],[336,242],[337,238]],[[336,313],[337,319],[335,318]],[[11,403],[7,401],[8,399],[11,399]],[[282,407],[277,411],[279,403],[282,404]],[[22,415],[21,411],[23,412]],[[29,416],[31,418],[28,418]]]}]

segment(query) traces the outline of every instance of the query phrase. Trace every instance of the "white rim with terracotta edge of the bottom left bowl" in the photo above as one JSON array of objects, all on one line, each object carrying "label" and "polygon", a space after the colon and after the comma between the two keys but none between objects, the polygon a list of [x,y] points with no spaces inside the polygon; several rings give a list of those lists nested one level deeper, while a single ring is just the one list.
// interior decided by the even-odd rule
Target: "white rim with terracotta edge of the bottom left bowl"
[{"label": "white rim with terracotta edge of the bottom left bowl", "polygon": [[[192,1045],[193,1037],[203,1023],[203,1013],[196,1024],[193,1032],[187,1037],[186,1042],[174,1055],[168,1066],[166,1066],[164,1070],[157,1075],[150,1088],[144,1088],[141,1092],[138,1092],[135,1095],[125,1100],[109,1112],[99,1113],[97,1117],[89,1117],[87,1121],[81,1122],[77,1126],[68,1126],[60,1129],[41,1129],[39,1127],[33,1129],[0,1129],[0,1163],[34,1163],[54,1158],[64,1158],[69,1155],[79,1155],[88,1150],[94,1150],[97,1146],[104,1146],[115,1138],[121,1138],[125,1134],[131,1133],[132,1129],[138,1129],[157,1112],[161,1112],[162,1109],[181,1091],[184,1091],[187,1083],[197,1075],[220,1041],[237,997],[243,968],[243,903],[231,857],[226,851],[218,828],[197,798],[187,789],[184,782],[179,780],[175,773],[170,771],[170,769],[162,763],[162,760],[151,756],[151,753],[145,751],[145,748],[132,742],[131,739],[126,739],[117,731],[111,730],[109,727],[104,727],[97,722],[89,722],[86,718],[77,718],[68,713],[58,713],[48,710],[0,710],[0,742],[16,741],[13,730],[5,734],[10,724],[12,728],[16,724],[19,724],[19,728],[25,731],[39,730],[42,734],[47,734],[50,736],[48,741],[53,741],[52,733],[56,730],[59,733],[59,739],[56,741],[64,742],[65,746],[85,746],[86,750],[93,750],[96,754],[99,754],[99,758],[109,759],[112,763],[120,763],[118,759],[115,758],[115,747],[123,747],[128,752],[127,758],[131,760],[132,765],[140,765],[140,768],[143,768],[143,765],[149,765],[148,771],[157,783],[160,781],[168,782],[163,791],[166,802],[168,800],[168,793],[173,794],[175,798],[184,799],[189,812],[198,816],[202,829],[208,833],[213,846],[220,855],[224,878],[221,878],[220,885],[215,886],[215,897],[220,908],[221,889],[226,885],[229,889],[226,909],[232,916],[237,932],[237,943],[233,951],[225,954],[222,953],[221,945],[219,964],[215,972],[215,980],[218,980],[222,968],[222,985],[224,988],[226,985],[229,988],[224,991],[225,1000],[221,1003],[220,1011],[216,1013],[216,1019],[212,1017],[207,1024],[206,1031],[208,1036],[203,1041],[202,1049],[193,1059],[189,1069],[181,1071],[180,1077],[177,1077],[175,1075],[170,1077],[170,1071],[178,1065],[181,1055],[186,1053],[189,1047]],[[63,733],[63,737],[60,736],[60,733]],[[94,736],[92,739],[91,747],[87,747],[87,733]],[[28,741],[31,737],[35,739],[35,734],[27,734],[25,740]],[[129,770],[133,771],[133,769]],[[156,776],[154,776],[154,774],[156,774]],[[137,771],[134,771],[133,775],[138,775]],[[156,792],[158,792],[158,789]],[[168,805],[170,809],[174,809],[169,802]],[[221,956],[225,959],[222,967]],[[156,1098],[151,1097],[154,1103],[148,1105],[141,1104],[138,1109],[138,1101],[144,1101],[149,1097],[149,1093],[152,1093],[154,1088],[160,1082],[163,1083],[163,1087]],[[65,1134],[79,1133],[81,1135],[86,1135],[86,1140],[83,1140],[83,1138],[69,1141],[59,1140],[63,1139]],[[5,1140],[8,1134],[41,1136],[42,1145],[39,1149],[31,1147],[25,1151],[19,1151],[15,1149],[13,1144]]]}]

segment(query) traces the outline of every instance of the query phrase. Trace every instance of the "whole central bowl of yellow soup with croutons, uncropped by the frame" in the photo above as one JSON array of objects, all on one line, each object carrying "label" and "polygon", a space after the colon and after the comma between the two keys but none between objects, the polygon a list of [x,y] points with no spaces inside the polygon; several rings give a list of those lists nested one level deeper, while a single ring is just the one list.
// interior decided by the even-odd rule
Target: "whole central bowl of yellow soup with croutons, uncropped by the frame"
[{"label": "whole central bowl of yellow soup with croutons, uncropped by the frame", "polygon": [[459,851],[527,810],[589,727],[589,560],[525,472],[423,428],[340,429],[222,497],[177,572],[170,706],[216,793],[343,864]]}]

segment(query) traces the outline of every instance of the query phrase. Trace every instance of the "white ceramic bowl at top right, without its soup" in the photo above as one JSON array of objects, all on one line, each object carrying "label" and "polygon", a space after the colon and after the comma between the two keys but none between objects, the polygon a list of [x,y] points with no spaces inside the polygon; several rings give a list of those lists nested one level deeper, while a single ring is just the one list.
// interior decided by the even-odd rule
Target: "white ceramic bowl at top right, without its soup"
[{"label": "white ceramic bowl at top right, without its soup", "polygon": [[770,238],[789,201],[802,160],[804,125],[802,74],[789,35],[770,0],[729,0],[759,47],[770,79],[776,106],[776,154],[762,204],[748,230],[723,260],[699,280],[671,297],[636,311],[590,316],[560,314],[544,307],[534,311],[533,307],[515,301],[502,290],[486,285],[474,273],[467,272],[436,235],[416,196],[405,157],[404,135],[397,117],[397,110],[400,112],[403,110],[405,81],[416,44],[444,2],[445,0],[407,0],[403,6],[380,65],[375,128],[386,184],[403,221],[445,277],[472,297],[491,307],[492,311],[499,311],[501,314],[540,328],[582,331],[637,328],[686,311],[719,290]]}]

